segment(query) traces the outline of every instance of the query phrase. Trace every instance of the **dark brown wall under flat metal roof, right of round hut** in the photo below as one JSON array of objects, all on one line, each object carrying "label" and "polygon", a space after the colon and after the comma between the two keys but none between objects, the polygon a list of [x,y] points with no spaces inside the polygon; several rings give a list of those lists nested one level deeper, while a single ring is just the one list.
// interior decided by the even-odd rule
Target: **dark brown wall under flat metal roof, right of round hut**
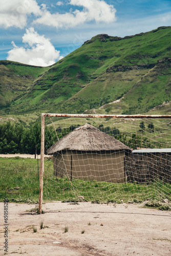
[{"label": "dark brown wall under flat metal roof, right of round hut", "polygon": [[156,179],[171,183],[171,154],[128,153],[125,156],[127,181],[149,182]]}]

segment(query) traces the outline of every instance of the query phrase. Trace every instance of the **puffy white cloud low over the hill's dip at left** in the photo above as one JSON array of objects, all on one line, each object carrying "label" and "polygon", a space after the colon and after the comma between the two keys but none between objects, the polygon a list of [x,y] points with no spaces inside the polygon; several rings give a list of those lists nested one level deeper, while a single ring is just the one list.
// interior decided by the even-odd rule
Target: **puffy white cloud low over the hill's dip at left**
[{"label": "puffy white cloud low over the hill's dip at left", "polygon": [[26,29],[23,42],[27,48],[17,47],[12,41],[13,49],[8,52],[8,60],[13,60],[34,66],[50,66],[61,59],[60,52],[55,50],[48,38],[39,35],[34,28]]}]

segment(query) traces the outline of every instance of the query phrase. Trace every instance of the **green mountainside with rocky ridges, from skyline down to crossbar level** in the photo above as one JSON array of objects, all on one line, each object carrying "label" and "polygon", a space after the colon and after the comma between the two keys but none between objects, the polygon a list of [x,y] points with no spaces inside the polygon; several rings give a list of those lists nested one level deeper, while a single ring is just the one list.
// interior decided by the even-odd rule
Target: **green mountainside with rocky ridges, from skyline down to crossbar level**
[{"label": "green mountainside with rocky ridges, from skyline down to crossbar level", "polygon": [[0,61],[1,113],[171,113],[170,38],[97,35],[46,68]]}]

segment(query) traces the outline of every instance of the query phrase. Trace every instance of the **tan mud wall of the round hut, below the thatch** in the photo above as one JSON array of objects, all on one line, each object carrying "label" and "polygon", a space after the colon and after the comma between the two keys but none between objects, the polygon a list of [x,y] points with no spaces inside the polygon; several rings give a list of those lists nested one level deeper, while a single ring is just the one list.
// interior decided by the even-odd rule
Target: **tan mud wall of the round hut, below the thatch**
[{"label": "tan mud wall of the round hut, below the thatch", "polygon": [[[54,175],[84,180],[125,182],[124,151],[66,151],[54,155]],[[71,173],[72,169],[72,173]]]}]

